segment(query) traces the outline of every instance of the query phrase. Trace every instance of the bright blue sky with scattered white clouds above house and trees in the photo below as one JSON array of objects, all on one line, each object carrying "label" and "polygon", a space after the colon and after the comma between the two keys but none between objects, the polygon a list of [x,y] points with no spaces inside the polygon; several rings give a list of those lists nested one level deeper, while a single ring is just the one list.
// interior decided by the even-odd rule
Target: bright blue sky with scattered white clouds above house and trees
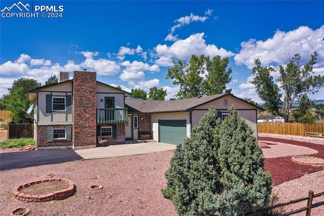
[{"label": "bright blue sky with scattered white clouds above house and trees", "polygon": [[[324,1],[2,0],[0,10],[1,96],[22,77],[45,84],[59,71],[86,68],[129,92],[163,87],[170,99],[178,86],[165,79],[167,68],[191,54],[229,57],[227,87],[256,102],[262,102],[250,83],[256,57],[285,64],[300,53],[305,63],[317,51],[314,72],[324,75]],[[38,17],[12,14],[19,12]],[[324,89],[310,97],[324,99]]]}]

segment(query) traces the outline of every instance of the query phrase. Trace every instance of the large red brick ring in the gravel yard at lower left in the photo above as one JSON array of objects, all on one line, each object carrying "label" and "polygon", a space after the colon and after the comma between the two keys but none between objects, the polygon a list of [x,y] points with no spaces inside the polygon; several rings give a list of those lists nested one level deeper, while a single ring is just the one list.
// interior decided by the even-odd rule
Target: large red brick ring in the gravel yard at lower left
[{"label": "large red brick ring in the gravel yard at lower left", "polygon": [[[62,183],[67,183],[69,185],[68,188],[60,190],[60,191],[55,191],[53,193],[49,194],[43,194],[43,195],[31,195],[31,194],[25,194],[20,192],[21,189],[27,188],[31,185],[34,184],[41,184],[45,182],[62,182]],[[69,179],[65,178],[49,178],[49,179],[42,179],[34,182],[29,182],[24,185],[19,186],[18,188],[15,188],[13,190],[14,197],[17,200],[20,201],[27,201],[27,202],[48,202],[52,200],[62,200],[66,199],[67,197],[71,196],[74,193],[75,185],[73,182]]]}]

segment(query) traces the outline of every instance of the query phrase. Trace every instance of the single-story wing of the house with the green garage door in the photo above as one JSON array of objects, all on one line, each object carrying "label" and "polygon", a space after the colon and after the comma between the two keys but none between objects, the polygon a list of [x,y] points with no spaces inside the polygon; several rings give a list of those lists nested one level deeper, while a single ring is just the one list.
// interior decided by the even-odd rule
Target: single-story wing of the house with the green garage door
[{"label": "single-story wing of the house with the green garage door", "polygon": [[[192,128],[213,106],[222,120],[233,104],[242,118],[254,130],[257,137],[257,112],[260,107],[232,94],[218,94],[182,100],[125,100],[128,107],[126,139],[147,137],[165,143],[176,144],[191,136]],[[132,123],[131,123],[132,121]]]}]

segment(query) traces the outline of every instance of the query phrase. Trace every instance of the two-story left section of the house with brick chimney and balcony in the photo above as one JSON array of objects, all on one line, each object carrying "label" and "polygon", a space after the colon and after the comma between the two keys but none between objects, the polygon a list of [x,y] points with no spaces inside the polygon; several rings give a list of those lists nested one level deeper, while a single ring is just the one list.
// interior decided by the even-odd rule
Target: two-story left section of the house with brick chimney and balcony
[{"label": "two-story left section of the house with brick chimney and balcony", "polygon": [[73,80],[61,72],[59,81],[28,92],[38,149],[95,148],[97,134],[125,143],[125,97],[131,93],[98,82],[93,71],[74,71]]}]

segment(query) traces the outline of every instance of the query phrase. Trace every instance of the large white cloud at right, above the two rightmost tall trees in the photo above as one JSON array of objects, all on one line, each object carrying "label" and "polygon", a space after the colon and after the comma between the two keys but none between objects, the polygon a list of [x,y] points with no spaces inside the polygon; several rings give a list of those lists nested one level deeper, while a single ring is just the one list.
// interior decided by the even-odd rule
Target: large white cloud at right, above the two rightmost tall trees
[{"label": "large white cloud at right, above the two rightmost tall trees", "polygon": [[254,58],[259,58],[261,63],[268,65],[271,62],[284,64],[287,56],[299,53],[302,57],[301,64],[309,61],[314,51],[318,52],[317,62],[324,61],[324,25],[312,30],[308,26],[300,26],[292,31],[276,30],[273,37],[266,41],[250,39],[241,43],[241,50],[235,55],[237,65],[245,64],[250,69],[254,66]]}]

